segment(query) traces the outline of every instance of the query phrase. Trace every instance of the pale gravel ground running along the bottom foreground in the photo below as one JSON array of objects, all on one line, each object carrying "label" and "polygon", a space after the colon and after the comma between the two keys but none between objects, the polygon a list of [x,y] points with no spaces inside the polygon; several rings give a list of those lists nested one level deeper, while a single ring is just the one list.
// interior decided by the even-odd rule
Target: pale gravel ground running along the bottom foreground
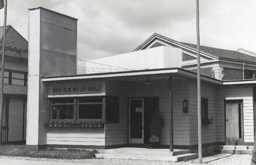
[{"label": "pale gravel ground running along the bottom foreground", "polygon": [[[198,159],[188,160],[186,162],[168,162],[168,161],[152,161],[152,160],[132,160],[132,159],[45,159],[30,157],[5,157],[8,159],[25,159],[37,161],[56,161],[56,162],[76,162],[76,163],[92,163],[98,165],[199,165]],[[203,158],[201,165],[250,165],[251,155],[249,154],[217,154]]]}]

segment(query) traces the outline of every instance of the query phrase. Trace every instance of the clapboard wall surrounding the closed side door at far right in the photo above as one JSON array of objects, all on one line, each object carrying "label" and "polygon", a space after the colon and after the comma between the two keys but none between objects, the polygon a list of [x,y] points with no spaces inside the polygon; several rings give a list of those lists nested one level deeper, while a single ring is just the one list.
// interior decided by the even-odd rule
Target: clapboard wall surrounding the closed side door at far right
[{"label": "clapboard wall surrounding the closed side door at far right", "polygon": [[[242,100],[244,114],[244,142],[254,142],[255,118],[253,110],[253,86],[250,84],[218,87],[218,141],[225,141],[224,100]],[[248,133],[248,134],[247,134]]]}]

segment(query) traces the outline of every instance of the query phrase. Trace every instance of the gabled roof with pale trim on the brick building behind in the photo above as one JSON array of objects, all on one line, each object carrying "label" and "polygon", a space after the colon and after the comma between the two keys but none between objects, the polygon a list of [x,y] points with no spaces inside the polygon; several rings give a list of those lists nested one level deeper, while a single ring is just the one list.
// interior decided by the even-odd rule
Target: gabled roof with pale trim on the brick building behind
[{"label": "gabled roof with pale trim on the brick building behind", "polygon": [[[162,36],[160,34],[154,33],[152,36],[150,36],[143,44],[141,44],[139,47],[137,47],[136,50],[142,50],[147,48],[150,43],[154,42],[155,40],[160,39],[167,42],[167,44],[175,45],[176,47],[180,47],[182,49],[192,49],[196,51],[196,45],[184,43],[184,42],[178,42],[173,39],[170,39],[166,36]],[[240,53],[238,51],[234,50],[226,50],[226,49],[219,49],[219,48],[212,48],[207,46],[200,46],[200,53],[204,54],[210,54],[217,58],[223,58],[223,59],[235,59],[235,60],[241,60],[241,61],[247,61],[247,62],[256,62],[255,56],[250,56],[244,53]]]}]

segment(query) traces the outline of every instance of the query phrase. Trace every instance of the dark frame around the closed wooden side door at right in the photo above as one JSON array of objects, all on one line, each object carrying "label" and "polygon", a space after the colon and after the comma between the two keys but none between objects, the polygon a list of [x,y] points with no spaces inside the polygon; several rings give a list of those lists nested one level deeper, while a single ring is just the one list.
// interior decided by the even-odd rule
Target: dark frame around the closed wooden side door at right
[{"label": "dark frame around the closed wooden side door at right", "polygon": [[[238,100],[224,100],[224,129],[225,129],[225,143],[227,137],[226,131],[226,104],[227,103],[241,103],[241,138],[239,138],[239,142],[244,142],[244,102],[241,99]],[[234,142],[235,143],[235,142]]]}]

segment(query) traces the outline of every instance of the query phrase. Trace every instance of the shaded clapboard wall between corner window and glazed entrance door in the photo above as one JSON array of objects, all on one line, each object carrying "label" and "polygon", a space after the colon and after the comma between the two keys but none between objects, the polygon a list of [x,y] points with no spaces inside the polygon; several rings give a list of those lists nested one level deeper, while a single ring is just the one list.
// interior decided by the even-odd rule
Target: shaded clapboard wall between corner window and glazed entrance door
[{"label": "shaded clapboard wall between corner window and glazed entrance door", "polygon": [[119,97],[119,123],[105,124],[105,145],[127,144],[127,83],[106,81],[106,95]]}]

